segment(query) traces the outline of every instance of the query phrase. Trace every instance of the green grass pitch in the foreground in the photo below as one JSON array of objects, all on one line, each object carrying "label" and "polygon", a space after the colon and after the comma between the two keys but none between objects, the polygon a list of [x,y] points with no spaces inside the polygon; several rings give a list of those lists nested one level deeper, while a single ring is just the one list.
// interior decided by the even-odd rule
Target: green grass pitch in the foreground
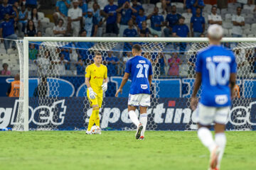
[{"label": "green grass pitch in the foreground", "polygon": [[[0,132],[0,169],[208,169],[208,149],[196,132]],[[256,132],[226,132],[223,170],[256,169]]]}]

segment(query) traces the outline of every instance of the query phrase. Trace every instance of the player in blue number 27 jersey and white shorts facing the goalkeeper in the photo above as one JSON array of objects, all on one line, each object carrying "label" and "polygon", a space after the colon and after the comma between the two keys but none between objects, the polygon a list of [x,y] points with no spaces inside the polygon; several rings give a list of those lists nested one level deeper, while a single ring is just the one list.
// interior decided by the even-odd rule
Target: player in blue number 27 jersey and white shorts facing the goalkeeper
[{"label": "player in blue number 27 jersey and white shorts facing the goalkeeper", "polygon": [[[142,57],[142,47],[138,44],[132,47],[133,57],[127,61],[124,78],[117,90],[122,94],[122,88],[131,75],[132,85],[130,86],[128,99],[129,118],[137,126],[136,139],[144,140],[146,130],[147,115],[146,108],[150,106],[150,86],[152,82],[152,65],[149,60]],[[138,119],[135,110],[139,107],[140,117]]]}]

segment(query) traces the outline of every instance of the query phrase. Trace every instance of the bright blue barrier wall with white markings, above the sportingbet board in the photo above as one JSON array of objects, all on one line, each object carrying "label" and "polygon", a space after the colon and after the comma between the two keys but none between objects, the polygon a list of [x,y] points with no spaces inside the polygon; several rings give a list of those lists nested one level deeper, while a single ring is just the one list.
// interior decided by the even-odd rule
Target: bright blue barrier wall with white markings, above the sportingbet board
[{"label": "bright blue barrier wall with white markings, above the sportingbet board", "polygon": [[[190,98],[193,92],[193,80],[194,79],[190,78],[153,79],[151,91],[154,94],[153,96],[157,98]],[[8,90],[11,81],[14,81],[13,77],[0,77],[0,96],[6,96],[6,91]],[[86,95],[87,88],[85,86],[84,77],[60,77],[60,79],[48,78],[47,81],[59,84],[59,88],[57,89],[58,97],[82,97]],[[108,90],[105,96],[114,96],[116,89],[120,86],[121,82],[122,77],[110,77]],[[157,82],[157,84],[154,84],[154,82]],[[33,97],[33,92],[39,83],[40,79],[38,79],[38,77],[29,78],[29,97]],[[128,97],[130,84],[131,81],[127,81],[127,84],[123,89],[123,94],[119,94],[119,97]],[[238,79],[237,84],[240,86],[241,97],[256,98],[256,79]],[[49,91],[53,91],[53,88],[55,88],[55,86],[48,86]],[[246,93],[248,90],[252,92]],[[166,93],[166,91],[168,91],[168,93]],[[51,94],[49,94],[49,96],[51,96]]]}]

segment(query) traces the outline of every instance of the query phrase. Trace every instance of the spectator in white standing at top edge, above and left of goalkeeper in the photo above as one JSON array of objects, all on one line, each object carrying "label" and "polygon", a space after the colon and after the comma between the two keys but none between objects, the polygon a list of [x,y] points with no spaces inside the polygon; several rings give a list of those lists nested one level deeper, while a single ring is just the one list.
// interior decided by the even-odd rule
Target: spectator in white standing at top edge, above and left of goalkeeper
[{"label": "spectator in white standing at top edge, above and left of goalkeeper", "polygon": [[78,0],[73,0],[73,8],[68,9],[68,31],[72,29],[74,37],[79,35],[81,19],[82,9],[78,8]]}]

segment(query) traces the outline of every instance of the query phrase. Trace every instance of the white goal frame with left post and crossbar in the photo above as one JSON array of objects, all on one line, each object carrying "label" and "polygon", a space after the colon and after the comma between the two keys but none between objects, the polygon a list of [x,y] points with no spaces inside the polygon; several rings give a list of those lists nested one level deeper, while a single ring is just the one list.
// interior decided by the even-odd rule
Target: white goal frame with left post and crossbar
[{"label": "white goal frame with left post and crossbar", "polygon": [[[23,38],[23,114],[28,125],[28,42],[208,42],[208,38],[119,38],[119,37],[24,37]],[[221,42],[256,42],[256,38],[223,38]]]}]

